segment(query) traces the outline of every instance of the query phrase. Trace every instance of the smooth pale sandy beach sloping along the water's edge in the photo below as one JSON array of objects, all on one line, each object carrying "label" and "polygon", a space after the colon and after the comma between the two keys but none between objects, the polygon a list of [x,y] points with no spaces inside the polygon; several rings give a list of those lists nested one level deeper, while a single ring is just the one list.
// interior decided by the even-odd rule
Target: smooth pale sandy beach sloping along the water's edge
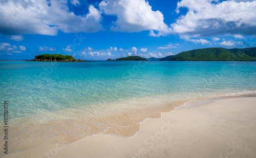
[{"label": "smooth pale sandy beach sloping along the water's edge", "polygon": [[98,134],[4,157],[256,157],[255,101],[247,95],[189,102],[145,120],[132,138]]}]

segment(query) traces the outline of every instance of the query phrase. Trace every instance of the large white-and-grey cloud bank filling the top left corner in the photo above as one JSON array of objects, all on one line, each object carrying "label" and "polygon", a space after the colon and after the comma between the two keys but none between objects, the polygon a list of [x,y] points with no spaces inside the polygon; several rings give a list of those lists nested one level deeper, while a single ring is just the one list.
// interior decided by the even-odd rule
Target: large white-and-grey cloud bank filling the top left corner
[{"label": "large white-and-grey cloud bank filling the top left corner", "polygon": [[[72,1],[74,4],[76,1]],[[2,33],[57,35],[102,30],[101,12],[92,5],[86,15],[70,12],[67,1],[5,1],[0,5]]]}]

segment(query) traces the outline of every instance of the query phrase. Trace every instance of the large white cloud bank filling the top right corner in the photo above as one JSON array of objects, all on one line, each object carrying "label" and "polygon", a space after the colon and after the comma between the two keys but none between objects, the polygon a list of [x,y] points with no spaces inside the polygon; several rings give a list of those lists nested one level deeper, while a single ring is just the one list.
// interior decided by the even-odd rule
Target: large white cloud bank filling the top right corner
[{"label": "large white cloud bank filling the top right corner", "polygon": [[187,8],[188,12],[181,15],[170,26],[178,34],[186,35],[225,35],[225,34],[256,34],[256,1],[213,0],[182,0],[178,2],[176,12]]}]

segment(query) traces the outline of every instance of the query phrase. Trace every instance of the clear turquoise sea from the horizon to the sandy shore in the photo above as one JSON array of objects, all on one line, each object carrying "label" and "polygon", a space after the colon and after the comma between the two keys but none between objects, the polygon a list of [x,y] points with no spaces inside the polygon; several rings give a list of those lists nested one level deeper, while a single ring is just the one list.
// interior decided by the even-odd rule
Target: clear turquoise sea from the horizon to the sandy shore
[{"label": "clear turquoise sea from the horizon to the sandy shore", "polygon": [[[0,96],[9,102],[13,140],[28,140],[22,134],[28,130],[38,139],[42,127],[50,133],[39,144],[16,144],[16,148],[13,144],[15,151],[49,143],[63,133],[72,138],[65,143],[103,132],[133,136],[139,122],[159,117],[161,109],[183,101],[256,92],[256,62],[1,61],[0,76]],[[150,110],[156,116],[146,113]],[[134,128],[115,132],[114,126]],[[79,134],[67,128],[76,128]]]}]

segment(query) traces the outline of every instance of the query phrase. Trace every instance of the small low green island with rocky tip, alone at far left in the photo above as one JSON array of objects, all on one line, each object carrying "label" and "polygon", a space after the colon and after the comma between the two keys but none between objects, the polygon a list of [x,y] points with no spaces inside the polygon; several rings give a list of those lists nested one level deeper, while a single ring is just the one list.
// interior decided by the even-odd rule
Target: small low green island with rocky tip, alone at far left
[{"label": "small low green island with rocky tip, alone at far left", "polygon": [[81,59],[75,59],[70,55],[61,55],[61,54],[41,54],[36,55],[32,60],[26,61],[53,61],[53,62],[91,62],[91,61],[84,61]]}]

